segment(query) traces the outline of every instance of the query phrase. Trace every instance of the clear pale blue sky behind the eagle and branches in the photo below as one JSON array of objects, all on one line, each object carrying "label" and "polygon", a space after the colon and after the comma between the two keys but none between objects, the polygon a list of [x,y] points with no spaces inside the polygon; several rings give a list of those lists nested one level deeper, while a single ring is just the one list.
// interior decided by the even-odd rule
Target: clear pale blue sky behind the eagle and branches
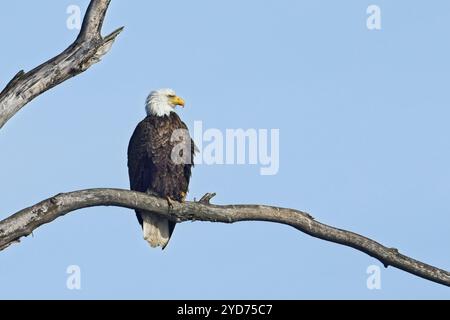
[{"label": "clear pale blue sky behind the eagle and branches", "polygon": [[[66,8],[2,3],[0,84],[76,37]],[[382,30],[366,28],[381,8]],[[112,51],[0,132],[0,217],[63,191],[128,188],[126,148],[150,90],[174,88],[190,128],[280,129],[280,170],[195,168],[189,198],[307,210],[450,269],[448,1],[112,0]],[[66,268],[81,268],[81,290]],[[0,298],[450,298],[353,249],[268,223],[185,223],[166,251],[134,213],[72,213],[0,253]]]}]

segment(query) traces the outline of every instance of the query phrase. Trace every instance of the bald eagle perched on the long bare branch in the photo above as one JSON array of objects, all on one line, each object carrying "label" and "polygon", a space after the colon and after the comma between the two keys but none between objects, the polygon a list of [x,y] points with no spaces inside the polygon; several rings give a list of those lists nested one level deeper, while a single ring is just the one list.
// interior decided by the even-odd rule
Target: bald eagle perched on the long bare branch
[{"label": "bald eagle perched on the long bare branch", "polygon": [[[184,100],[171,89],[160,89],[147,98],[147,117],[128,146],[131,190],[146,192],[169,201],[184,201],[188,192],[195,145],[186,124],[175,113]],[[136,210],[144,239],[152,247],[167,246],[175,222],[151,211]]]}]

